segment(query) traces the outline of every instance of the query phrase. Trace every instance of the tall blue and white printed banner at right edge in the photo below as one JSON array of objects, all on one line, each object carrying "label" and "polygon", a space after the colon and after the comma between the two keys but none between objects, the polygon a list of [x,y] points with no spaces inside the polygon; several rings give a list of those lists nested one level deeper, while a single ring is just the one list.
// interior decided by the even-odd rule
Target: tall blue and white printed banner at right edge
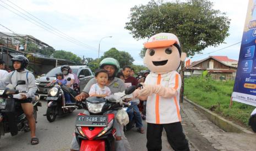
[{"label": "tall blue and white printed banner at right edge", "polygon": [[249,0],[232,101],[256,106],[256,0]]}]

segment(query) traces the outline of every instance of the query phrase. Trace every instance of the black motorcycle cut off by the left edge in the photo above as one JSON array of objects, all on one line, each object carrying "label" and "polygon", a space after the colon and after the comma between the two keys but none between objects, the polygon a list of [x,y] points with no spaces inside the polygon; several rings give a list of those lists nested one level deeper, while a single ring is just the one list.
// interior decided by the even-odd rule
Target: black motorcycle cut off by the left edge
[{"label": "black motorcycle cut off by the left edge", "polygon": [[[18,80],[15,88],[23,84],[25,84],[24,80]],[[0,88],[0,137],[8,132],[14,136],[18,134],[18,131],[30,131],[28,120],[18,99],[19,94],[27,91],[15,90],[15,88]],[[33,116],[36,120],[37,107],[42,106],[38,96],[32,98],[32,104],[34,106]]]}]

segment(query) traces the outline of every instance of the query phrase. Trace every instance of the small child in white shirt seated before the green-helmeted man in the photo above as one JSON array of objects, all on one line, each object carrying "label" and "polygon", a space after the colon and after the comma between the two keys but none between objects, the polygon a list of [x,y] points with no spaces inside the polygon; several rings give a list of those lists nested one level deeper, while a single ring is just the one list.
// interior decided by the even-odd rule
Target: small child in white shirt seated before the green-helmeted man
[{"label": "small child in white shirt seated before the green-helmeted man", "polygon": [[108,80],[108,74],[105,69],[100,69],[95,72],[96,84],[93,84],[90,88],[89,95],[97,97],[110,96],[110,88],[106,86]]}]

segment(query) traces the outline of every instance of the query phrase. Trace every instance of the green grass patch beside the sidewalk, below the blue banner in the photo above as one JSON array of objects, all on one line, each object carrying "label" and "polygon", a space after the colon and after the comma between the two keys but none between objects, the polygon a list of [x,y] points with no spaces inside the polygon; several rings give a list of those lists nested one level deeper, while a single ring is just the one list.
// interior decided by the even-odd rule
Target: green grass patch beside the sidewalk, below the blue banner
[{"label": "green grass patch beside the sidewalk, below the blue banner", "polygon": [[232,107],[229,108],[234,82],[200,77],[185,78],[184,96],[226,119],[248,126],[248,119],[254,106],[233,101]]}]

